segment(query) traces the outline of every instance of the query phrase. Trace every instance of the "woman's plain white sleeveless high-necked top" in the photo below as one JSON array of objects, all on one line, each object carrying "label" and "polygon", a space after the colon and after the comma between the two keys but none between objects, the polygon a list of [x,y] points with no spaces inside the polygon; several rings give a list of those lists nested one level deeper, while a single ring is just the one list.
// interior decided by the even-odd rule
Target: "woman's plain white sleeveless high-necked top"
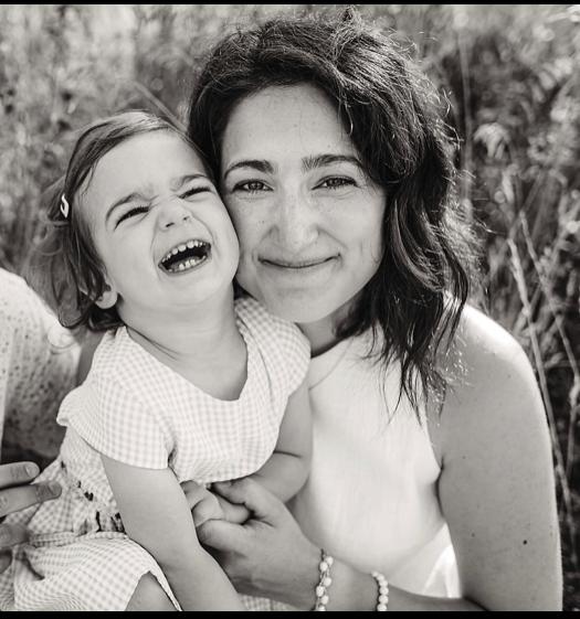
[{"label": "woman's plain white sleeveless high-necked top", "polygon": [[355,567],[412,593],[458,596],[425,412],[420,424],[404,394],[397,406],[398,364],[384,378],[368,350],[362,335],[310,361],[313,465],[291,508],[313,542]]}]

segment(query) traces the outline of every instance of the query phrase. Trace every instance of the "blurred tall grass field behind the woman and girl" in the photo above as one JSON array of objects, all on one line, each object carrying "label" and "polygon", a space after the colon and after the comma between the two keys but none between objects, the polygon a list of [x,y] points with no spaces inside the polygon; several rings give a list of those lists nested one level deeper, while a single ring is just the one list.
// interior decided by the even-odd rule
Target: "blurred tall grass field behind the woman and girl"
[{"label": "blurred tall grass field behind the woman and girl", "polygon": [[[22,274],[41,194],[75,132],[147,108],[184,119],[212,42],[236,23],[340,4],[0,7],[0,266]],[[478,303],[523,344],[550,424],[566,572],[580,609],[580,6],[361,4],[449,100],[461,200],[481,223]]]}]

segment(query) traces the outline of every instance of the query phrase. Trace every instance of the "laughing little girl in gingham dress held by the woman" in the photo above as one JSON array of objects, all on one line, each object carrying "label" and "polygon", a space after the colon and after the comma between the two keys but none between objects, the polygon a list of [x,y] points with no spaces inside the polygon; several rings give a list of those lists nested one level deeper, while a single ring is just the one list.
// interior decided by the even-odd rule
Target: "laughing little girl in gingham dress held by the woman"
[{"label": "laughing little girl in gingham dress held by the woman", "polygon": [[[45,266],[61,320],[107,331],[40,478],[61,498],[10,516],[30,541],[2,577],[2,607],[243,610],[196,524],[249,515],[212,482],[252,474],[282,500],[303,485],[306,340],[254,300],[234,303],[232,223],[166,121],[127,113],[89,127],[53,202]],[[188,480],[200,484],[193,517]]]}]

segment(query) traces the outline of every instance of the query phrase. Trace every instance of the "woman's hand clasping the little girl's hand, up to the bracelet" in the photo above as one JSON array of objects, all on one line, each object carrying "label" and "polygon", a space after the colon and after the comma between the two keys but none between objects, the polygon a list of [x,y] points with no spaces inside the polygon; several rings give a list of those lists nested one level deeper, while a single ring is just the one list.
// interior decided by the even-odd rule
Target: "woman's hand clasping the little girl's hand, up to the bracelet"
[{"label": "woman's hand clasping the little girl's hand, up to the bracelet", "polygon": [[236,590],[309,608],[320,551],[285,505],[252,479],[214,483],[212,490],[252,514],[242,525],[211,520],[198,530]]}]

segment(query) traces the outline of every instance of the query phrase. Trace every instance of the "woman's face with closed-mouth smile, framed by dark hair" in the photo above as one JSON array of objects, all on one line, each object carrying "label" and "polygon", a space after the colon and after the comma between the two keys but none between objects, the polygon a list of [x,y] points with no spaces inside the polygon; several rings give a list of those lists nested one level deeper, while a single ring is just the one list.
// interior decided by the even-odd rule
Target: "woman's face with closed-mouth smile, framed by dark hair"
[{"label": "woman's face with closed-mouth smile, framed by dark hair", "polygon": [[238,281],[273,313],[333,323],[376,273],[386,193],[314,86],[268,87],[234,108],[221,190]]}]

